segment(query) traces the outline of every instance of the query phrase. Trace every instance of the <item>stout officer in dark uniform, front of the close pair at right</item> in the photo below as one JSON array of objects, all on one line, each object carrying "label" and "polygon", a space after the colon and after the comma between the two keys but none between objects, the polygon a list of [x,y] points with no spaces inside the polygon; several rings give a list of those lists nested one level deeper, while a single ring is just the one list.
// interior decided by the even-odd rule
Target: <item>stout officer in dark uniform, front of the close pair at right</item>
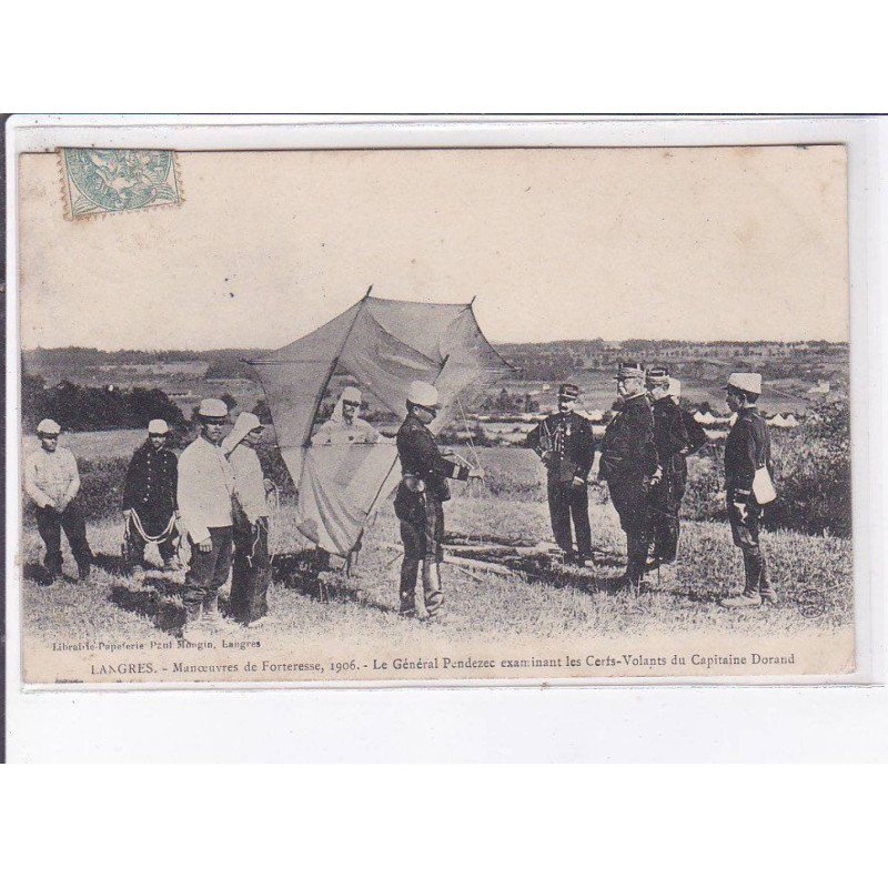
[{"label": "stout officer in dark uniform, front of the close pair at right", "polygon": [[610,502],[626,533],[626,573],[622,579],[637,591],[647,564],[647,498],[657,472],[654,416],[645,397],[645,371],[639,363],[619,364],[616,381],[623,403],[602,440],[598,477],[607,482]]}]

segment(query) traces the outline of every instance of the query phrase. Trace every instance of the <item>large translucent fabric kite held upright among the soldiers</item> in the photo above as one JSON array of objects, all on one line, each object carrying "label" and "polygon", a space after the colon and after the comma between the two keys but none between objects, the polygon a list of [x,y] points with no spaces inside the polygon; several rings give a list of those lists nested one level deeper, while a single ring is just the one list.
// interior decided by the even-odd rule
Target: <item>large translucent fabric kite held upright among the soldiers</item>
[{"label": "large translucent fabric kite held upright among the soldiers", "polygon": [[432,431],[457,415],[470,390],[511,370],[478,327],[472,303],[375,299],[250,364],[271,410],[278,445],[299,492],[300,531],[347,557],[401,478],[392,437],[372,444],[317,444],[312,437],[334,376],[347,374],[402,421],[407,387],[433,383],[442,410]]}]

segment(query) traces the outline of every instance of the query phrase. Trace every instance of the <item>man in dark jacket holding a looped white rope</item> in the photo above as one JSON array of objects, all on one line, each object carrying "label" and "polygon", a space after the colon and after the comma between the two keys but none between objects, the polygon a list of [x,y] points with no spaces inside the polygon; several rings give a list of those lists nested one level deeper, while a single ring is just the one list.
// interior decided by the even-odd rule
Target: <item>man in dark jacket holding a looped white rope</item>
[{"label": "man in dark jacket holding a looped white rope", "polygon": [[151,420],[148,438],[135,451],[123,484],[123,562],[134,574],[144,569],[147,543],[157,543],[164,571],[174,571],[179,543],[175,506],[178,460],[167,446],[170,427]]}]

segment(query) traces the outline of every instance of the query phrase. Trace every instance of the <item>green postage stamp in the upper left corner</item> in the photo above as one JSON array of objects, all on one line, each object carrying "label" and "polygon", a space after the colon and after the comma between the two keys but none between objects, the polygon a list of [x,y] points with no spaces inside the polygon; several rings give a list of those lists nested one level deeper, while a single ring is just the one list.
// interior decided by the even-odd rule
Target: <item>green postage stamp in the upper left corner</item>
[{"label": "green postage stamp in the upper left corner", "polygon": [[172,151],[63,148],[60,154],[68,219],[182,203]]}]

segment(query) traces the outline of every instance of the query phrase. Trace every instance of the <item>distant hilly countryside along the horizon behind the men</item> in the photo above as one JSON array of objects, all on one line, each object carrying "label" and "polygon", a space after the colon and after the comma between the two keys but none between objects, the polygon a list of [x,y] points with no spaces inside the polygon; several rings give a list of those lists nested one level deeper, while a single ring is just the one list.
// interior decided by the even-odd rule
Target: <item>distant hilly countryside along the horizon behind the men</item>
[{"label": "distant hilly countryside along the horizon behind the men", "polygon": [[[676,340],[565,340],[547,343],[504,343],[496,350],[517,369],[504,381],[515,403],[554,405],[557,383],[581,385],[588,408],[606,410],[615,396],[613,373],[618,361],[665,364],[684,384],[687,404],[724,403],[722,386],[731,371],[754,371],[765,377],[763,408],[804,412],[819,384],[830,398],[848,393],[848,343],[816,342],[680,342]],[[61,381],[84,386],[162,389],[185,416],[208,395],[230,395],[253,408],[261,386],[243,359],[270,350],[120,351],[37,349],[22,354],[23,370],[47,385]],[[497,384],[496,392],[500,391]]]}]

